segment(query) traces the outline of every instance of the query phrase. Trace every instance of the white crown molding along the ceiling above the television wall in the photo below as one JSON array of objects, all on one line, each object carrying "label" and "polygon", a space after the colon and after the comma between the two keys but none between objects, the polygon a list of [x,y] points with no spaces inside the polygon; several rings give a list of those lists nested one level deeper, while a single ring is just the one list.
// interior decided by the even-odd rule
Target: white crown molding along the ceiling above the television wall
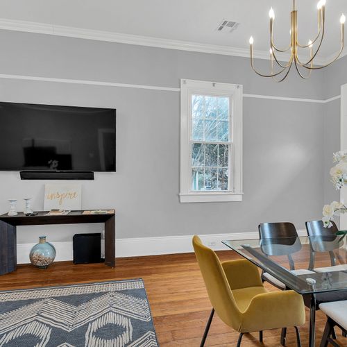
[{"label": "white crown molding along the ceiling above the television wall", "polygon": [[[25,33],[39,33],[65,37],[75,37],[85,40],[97,40],[117,42],[122,44],[135,44],[138,46],[150,46],[164,49],[178,49],[180,51],[193,51],[201,53],[221,54],[224,56],[237,56],[249,58],[249,49],[221,46],[217,44],[202,44],[182,40],[169,40],[158,37],[112,33],[110,31],[98,31],[73,26],[60,26],[38,22],[26,22],[13,19],[0,19],[0,29],[9,31],[22,31]],[[253,51],[254,58],[269,60],[269,51]],[[308,57],[307,57],[308,58]],[[278,56],[279,60],[289,60],[289,55]],[[305,57],[303,57],[305,59]],[[323,65],[326,59],[316,58],[316,65]]]}]

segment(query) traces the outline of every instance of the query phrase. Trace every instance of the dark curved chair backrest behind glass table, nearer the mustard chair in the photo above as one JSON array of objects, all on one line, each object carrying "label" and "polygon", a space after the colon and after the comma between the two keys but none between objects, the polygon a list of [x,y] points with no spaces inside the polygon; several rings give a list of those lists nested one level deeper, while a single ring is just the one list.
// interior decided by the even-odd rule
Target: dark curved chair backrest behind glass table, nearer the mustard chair
[{"label": "dark curved chair backrest behind glass table, nearer the mustard chair", "polygon": [[301,242],[293,223],[260,223],[258,226],[262,252],[266,255],[287,255],[291,270],[295,269],[292,253],[301,250]]}]

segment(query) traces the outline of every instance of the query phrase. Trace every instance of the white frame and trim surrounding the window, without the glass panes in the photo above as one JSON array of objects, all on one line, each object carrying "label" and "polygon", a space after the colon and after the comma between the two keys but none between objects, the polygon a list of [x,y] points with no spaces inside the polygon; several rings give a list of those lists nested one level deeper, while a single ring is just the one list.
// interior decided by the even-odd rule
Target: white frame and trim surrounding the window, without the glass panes
[{"label": "white frame and trim surrounding the window, without the glass panes", "polygon": [[[192,191],[192,94],[229,96],[229,189]],[[180,80],[180,202],[242,201],[242,85]]]}]

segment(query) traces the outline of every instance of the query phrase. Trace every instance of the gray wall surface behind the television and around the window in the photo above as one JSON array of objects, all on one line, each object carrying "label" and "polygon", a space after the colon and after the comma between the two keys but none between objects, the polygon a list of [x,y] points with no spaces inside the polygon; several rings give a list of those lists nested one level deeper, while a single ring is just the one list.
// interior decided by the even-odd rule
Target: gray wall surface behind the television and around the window
[{"label": "gray wall surface behind the television and around the window", "polygon": [[[323,99],[323,72],[277,84],[246,58],[0,31],[0,74],[179,87],[180,78],[238,83],[246,94]],[[257,60],[260,69],[269,62]],[[319,219],[323,203],[322,104],[244,98],[244,201],[179,203],[179,92],[0,79],[0,99],[117,108],[117,173],[83,181],[82,208],[116,208],[117,237],[251,232],[262,221]],[[51,182],[50,182],[51,183]],[[332,188],[333,189],[333,188]],[[8,198],[34,198],[44,182],[0,173],[0,212]],[[21,203],[22,204],[22,203]],[[22,210],[22,205],[19,205]],[[19,242],[51,241],[101,226],[19,229]]]}]

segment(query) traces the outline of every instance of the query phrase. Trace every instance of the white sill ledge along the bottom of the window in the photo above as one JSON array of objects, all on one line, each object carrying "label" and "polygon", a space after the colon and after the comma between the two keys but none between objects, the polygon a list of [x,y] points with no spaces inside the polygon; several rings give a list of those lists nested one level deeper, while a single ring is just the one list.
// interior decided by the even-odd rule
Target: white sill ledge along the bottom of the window
[{"label": "white sill ledge along the bottom of the window", "polygon": [[180,194],[180,203],[222,203],[242,201],[244,193],[221,192],[191,192]]}]

